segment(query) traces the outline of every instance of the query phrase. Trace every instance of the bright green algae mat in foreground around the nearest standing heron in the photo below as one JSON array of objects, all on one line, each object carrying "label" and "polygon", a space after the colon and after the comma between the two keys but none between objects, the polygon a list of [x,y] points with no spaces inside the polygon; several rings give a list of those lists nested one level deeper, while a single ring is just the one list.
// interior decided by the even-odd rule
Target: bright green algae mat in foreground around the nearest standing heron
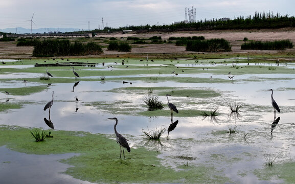
[{"label": "bright green algae mat in foreground around the nearest standing heron", "polygon": [[[189,170],[176,172],[161,165],[159,152],[145,148],[131,148],[126,159],[119,158],[119,146],[115,140],[103,134],[51,130],[52,138],[36,143],[30,129],[17,126],[0,126],[0,146],[27,154],[80,153],[61,162],[74,167],[65,174],[90,182],[102,183],[223,183],[230,181],[213,167],[191,166]],[[129,138],[129,141],[132,141]],[[50,156],[50,155],[49,155]],[[9,160],[8,160],[9,162]]]}]

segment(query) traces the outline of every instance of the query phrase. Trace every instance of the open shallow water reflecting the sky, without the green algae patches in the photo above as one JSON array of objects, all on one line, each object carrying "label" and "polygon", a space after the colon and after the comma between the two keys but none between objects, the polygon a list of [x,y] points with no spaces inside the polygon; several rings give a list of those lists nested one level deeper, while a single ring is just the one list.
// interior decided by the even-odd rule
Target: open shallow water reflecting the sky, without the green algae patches
[{"label": "open shallow water reflecting the sky, without the green algae patches", "polygon": [[[39,77],[39,74],[32,74],[31,77],[36,77],[34,75]],[[6,79],[11,80],[0,83],[1,88],[24,86],[23,82],[13,80],[15,74],[4,76],[7,77]],[[150,76],[167,77],[171,75],[129,75],[124,77]],[[228,75],[215,75],[211,71],[197,75],[181,74],[177,77],[210,78],[210,76],[229,80]],[[109,76],[109,78],[112,77],[120,78],[123,76]],[[113,135],[114,121],[107,118],[117,117],[119,120],[117,130],[123,135],[132,135],[129,138],[131,149],[145,145],[151,150],[159,150],[161,152],[160,157],[163,158],[163,165],[179,169],[177,166],[183,165],[185,160],[178,159],[177,156],[189,156],[194,158],[190,161],[190,165],[215,167],[235,183],[281,183],[282,180],[278,178],[269,181],[260,180],[253,174],[253,171],[265,167],[265,154],[273,153],[280,156],[277,161],[279,163],[286,162],[284,158],[294,158],[295,156],[295,147],[292,141],[295,128],[295,125],[293,125],[295,123],[295,114],[293,113],[295,110],[294,84],[295,74],[239,75],[235,76],[234,80],[229,80],[228,83],[178,83],[174,81],[147,83],[144,81],[132,81],[132,85],[130,85],[123,84],[122,81],[106,81],[106,83],[80,81],[74,87],[74,91],[74,83],[56,83],[48,86],[47,90],[33,95],[8,95],[8,103],[20,103],[24,107],[1,113],[0,124],[49,129],[43,121],[44,118],[48,119],[48,110],[44,111],[43,107],[52,99],[52,91],[54,91],[51,121],[57,130],[88,131]],[[26,85],[46,84],[28,82]],[[177,114],[174,114],[174,121],[178,120],[179,123],[175,130],[169,133],[169,140],[166,140],[166,132],[161,140],[162,146],[152,143],[146,144],[146,140],[142,138],[142,129],[152,130],[161,127],[167,129],[170,124],[169,115],[166,117],[145,117],[139,116],[136,112],[135,114],[114,114],[110,107],[103,108],[103,106],[89,105],[93,102],[98,104],[109,103],[109,106],[113,105],[118,110],[122,109],[122,111],[129,106],[134,106],[139,112],[145,111],[147,108],[143,98],[146,97],[146,93],[137,93],[137,91],[132,90],[116,90],[117,88],[130,86],[177,86],[179,88],[215,90],[222,95],[214,98],[173,97],[172,95],[169,101],[177,106],[179,114],[181,110],[186,109],[213,110],[218,107],[220,115],[217,117],[217,121],[212,121],[210,118],[204,119],[197,116],[178,117]],[[271,123],[274,121],[273,107],[270,101],[271,92],[267,91],[270,88],[274,89],[274,98],[282,111],[277,113],[277,117],[280,117],[281,120],[274,129],[273,134],[270,133]],[[175,90],[177,89],[175,87]],[[79,102],[76,102],[76,96]],[[164,104],[167,102],[165,96],[160,96],[160,100]],[[5,94],[2,94],[0,101],[6,103]],[[122,106],[120,105],[122,101],[128,101],[129,103],[127,106]],[[228,102],[241,102],[244,105],[240,110],[241,117],[239,119],[229,118],[230,110],[226,105]],[[168,110],[167,105],[164,110]],[[169,111],[167,112],[169,113]],[[19,120],[19,117],[22,117],[21,120]],[[235,125],[238,127],[238,133],[226,133],[229,126]],[[249,132],[247,140],[241,139],[242,135],[247,132]],[[17,159],[20,155],[25,157],[24,165],[30,159],[33,159],[30,156],[36,158],[36,155],[13,152],[5,147],[0,148],[0,153],[11,155],[11,157],[0,158],[0,163],[3,163],[3,166],[5,166],[6,159],[9,162],[15,160],[15,162],[22,163],[21,160]],[[56,160],[70,156],[73,155],[37,155],[38,159],[46,157],[43,160],[44,165],[51,163],[51,167],[57,168],[53,173],[50,172],[51,176],[54,175],[57,180],[51,179],[50,182],[75,183],[77,182],[76,179],[59,174],[59,171],[63,171],[68,166],[56,162]],[[17,165],[11,164],[9,167],[13,169]],[[19,173],[26,174],[20,171]],[[30,174],[28,173],[28,175]],[[28,177],[28,181],[34,182],[35,180],[33,178],[30,180]],[[86,183],[84,181],[78,182]]]}]

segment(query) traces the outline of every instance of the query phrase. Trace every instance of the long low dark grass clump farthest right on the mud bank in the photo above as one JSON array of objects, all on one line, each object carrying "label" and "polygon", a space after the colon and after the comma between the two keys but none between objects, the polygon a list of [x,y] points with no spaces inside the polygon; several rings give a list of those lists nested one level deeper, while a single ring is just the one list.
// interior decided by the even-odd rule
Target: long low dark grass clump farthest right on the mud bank
[{"label": "long low dark grass clump farthest right on the mud bank", "polygon": [[289,39],[276,41],[250,41],[241,45],[241,50],[285,50],[293,48]]}]

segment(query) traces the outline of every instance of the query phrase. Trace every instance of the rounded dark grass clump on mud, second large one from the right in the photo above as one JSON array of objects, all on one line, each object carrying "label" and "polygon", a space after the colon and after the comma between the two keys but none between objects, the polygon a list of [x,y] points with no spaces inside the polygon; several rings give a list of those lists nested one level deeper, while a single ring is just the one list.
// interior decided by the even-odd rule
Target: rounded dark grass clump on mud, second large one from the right
[{"label": "rounded dark grass clump on mud, second large one from the right", "polygon": [[187,42],[186,51],[195,52],[230,52],[232,46],[230,42],[223,38],[210,40],[191,40]]}]

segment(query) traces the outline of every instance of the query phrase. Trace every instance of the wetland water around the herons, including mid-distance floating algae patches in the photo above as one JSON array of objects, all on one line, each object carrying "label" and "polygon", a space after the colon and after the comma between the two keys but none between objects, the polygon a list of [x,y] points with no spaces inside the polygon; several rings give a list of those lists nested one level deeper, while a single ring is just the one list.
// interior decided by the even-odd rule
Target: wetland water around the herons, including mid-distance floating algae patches
[{"label": "wetland water around the herons, including mid-distance floating algae patches", "polygon": [[[106,65],[113,65],[114,70],[102,68],[98,64],[97,71],[96,67],[91,68],[91,71],[97,72],[96,76],[93,74],[82,76],[81,73],[87,73],[89,68],[79,67],[76,72],[81,78],[75,87],[74,84],[78,79],[75,81],[73,76],[63,76],[59,73],[60,71],[72,72],[69,67],[49,67],[52,74],[56,72],[60,75],[48,81],[51,85],[36,80],[30,82],[30,79],[42,75],[42,72],[33,72],[40,69],[31,65],[28,65],[27,70],[22,65],[20,70],[24,70],[23,73],[1,73],[0,88],[3,91],[0,97],[1,104],[21,104],[22,107],[0,112],[0,125],[40,127],[49,130],[50,128],[43,120],[48,118],[48,110],[44,111],[43,107],[52,100],[52,91],[54,91],[50,119],[55,130],[107,134],[111,139],[115,139],[114,122],[107,118],[117,117],[119,120],[117,130],[128,137],[131,147],[131,153],[125,154],[128,158],[132,159],[132,149],[144,147],[150,151],[160,152],[158,157],[161,158],[161,164],[176,171],[189,172],[190,169],[201,166],[214,168],[208,172],[212,176],[212,181],[217,178],[218,183],[295,182],[294,171],[285,168],[286,164],[295,166],[295,72],[293,72],[292,64],[277,66],[274,63],[265,63],[259,67],[259,65],[239,62],[240,67],[233,68],[231,63],[214,65],[212,60],[203,61],[202,64],[193,62],[188,64],[186,62],[189,61],[185,60],[180,63],[158,61],[159,63],[154,65],[145,66],[151,67],[150,74],[138,74],[132,71],[139,69],[137,67],[141,67],[142,70],[143,64],[140,65],[130,59],[130,65],[125,64],[125,66],[133,67],[133,70],[128,72],[125,66],[114,65],[114,61],[103,61]],[[268,67],[273,65],[276,66],[276,70],[269,70]],[[207,66],[208,70],[202,69]],[[19,68],[17,63],[15,68]],[[115,73],[121,70],[126,70],[126,73],[119,75]],[[154,70],[161,72],[153,72]],[[99,80],[102,75],[100,71],[105,72],[105,82]],[[173,71],[176,71],[178,75],[171,74]],[[229,72],[235,76],[233,80],[229,79]],[[24,76],[28,79],[26,84],[22,81]],[[62,79],[66,82],[60,82]],[[89,81],[89,79],[94,80]],[[123,79],[132,82],[132,85],[123,84]],[[59,82],[55,82],[56,80]],[[29,95],[14,93],[14,89],[26,90],[34,86],[43,86],[43,89]],[[147,96],[149,87],[154,89],[153,94],[163,102],[164,109],[146,113],[147,106],[143,99]],[[280,121],[272,133],[274,108],[271,106],[271,91],[267,91],[270,88],[274,89],[274,99],[281,109],[281,113],[276,113]],[[6,89],[10,90],[7,96]],[[194,94],[200,93],[199,90],[205,91],[203,92],[205,95]],[[208,96],[212,91],[219,95]],[[169,97],[169,102],[175,104],[179,111],[178,114],[174,113],[174,121],[178,120],[179,123],[169,133],[169,139],[166,139],[166,131],[161,143],[148,142],[142,129],[168,129],[170,125],[170,110],[167,106],[166,94],[172,95]],[[78,102],[75,100],[76,96],[79,99]],[[231,110],[226,105],[235,102],[243,105],[238,118],[230,116]],[[216,120],[203,118],[196,112],[216,108],[218,109]],[[237,126],[237,132],[228,133],[229,127],[234,126]],[[52,132],[54,134],[54,130]],[[245,134],[247,136],[243,137]],[[118,149],[116,153],[119,153]],[[6,155],[0,158],[0,177],[5,178],[7,182],[15,183],[22,175],[32,176],[27,177],[24,183],[35,182],[36,172],[27,173],[23,171],[24,168],[19,167],[22,164],[27,165],[31,160],[32,167],[40,167],[42,171],[48,173],[48,176],[44,178],[51,183],[88,183],[88,181],[61,174],[67,170],[67,167],[72,166],[61,164],[58,160],[73,157],[78,153],[32,155],[9,150],[5,144],[0,147],[0,153]],[[276,157],[272,167],[265,165],[267,154]],[[20,157],[24,159],[19,159]],[[36,160],[42,160],[42,163]],[[55,169],[42,169],[43,165]],[[7,168],[15,172],[16,177],[7,174],[10,173]],[[89,180],[92,181],[92,179]]]}]

